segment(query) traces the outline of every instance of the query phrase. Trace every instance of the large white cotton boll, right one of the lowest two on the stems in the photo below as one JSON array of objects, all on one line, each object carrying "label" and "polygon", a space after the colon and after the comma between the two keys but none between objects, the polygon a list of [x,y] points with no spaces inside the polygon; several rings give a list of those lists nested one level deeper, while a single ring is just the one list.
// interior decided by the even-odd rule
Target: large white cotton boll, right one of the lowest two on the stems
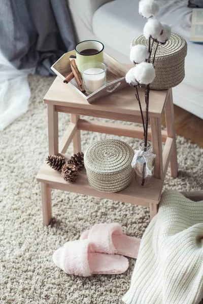
[{"label": "large white cotton boll, right one of the lowest two on the stems", "polygon": [[139,84],[148,85],[155,79],[155,69],[152,63],[141,62],[133,68],[134,78]]}]

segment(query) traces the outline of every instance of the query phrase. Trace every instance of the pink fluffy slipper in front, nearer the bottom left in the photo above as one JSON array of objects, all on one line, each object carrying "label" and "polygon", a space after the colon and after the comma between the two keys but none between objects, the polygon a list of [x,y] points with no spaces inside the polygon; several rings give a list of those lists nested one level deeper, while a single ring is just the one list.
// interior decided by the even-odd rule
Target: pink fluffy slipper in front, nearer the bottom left
[{"label": "pink fluffy slipper in front, nearer the bottom left", "polygon": [[117,254],[93,252],[89,240],[67,242],[53,254],[53,261],[66,274],[88,277],[93,274],[117,275],[128,269],[128,260]]}]

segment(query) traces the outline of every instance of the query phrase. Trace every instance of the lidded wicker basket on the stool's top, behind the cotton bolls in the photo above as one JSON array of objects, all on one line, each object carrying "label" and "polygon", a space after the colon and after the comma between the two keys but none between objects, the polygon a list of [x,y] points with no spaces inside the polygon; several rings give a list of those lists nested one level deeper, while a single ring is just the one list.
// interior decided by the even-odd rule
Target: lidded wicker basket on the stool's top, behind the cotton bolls
[{"label": "lidded wicker basket on the stool's top, behind the cotton bolls", "polygon": [[[140,35],[134,39],[130,48],[138,44],[148,46],[148,41],[144,35]],[[156,43],[153,45],[152,58],[156,45]],[[179,34],[172,33],[170,40],[164,45],[159,44],[154,62],[156,78],[150,85],[150,88],[164,90],[179,85],[185,77],[186,55],[187,43]]]}]

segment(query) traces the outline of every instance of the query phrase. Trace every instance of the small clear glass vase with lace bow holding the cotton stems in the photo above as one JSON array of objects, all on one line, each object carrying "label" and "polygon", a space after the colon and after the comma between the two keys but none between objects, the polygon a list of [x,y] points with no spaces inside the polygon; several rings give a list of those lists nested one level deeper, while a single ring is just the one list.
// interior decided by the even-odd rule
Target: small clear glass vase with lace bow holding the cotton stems
[{"label": "small clear glass vase with lace bow holding the cotton stems", "polygon": [[150,187],[154,182],[154,159],[155,154],[151,151],[151,144],[147,142],[145,149],[145,142],[140,142],[140,149],[137,153],[136,165],[136,181],[139,186]]}]

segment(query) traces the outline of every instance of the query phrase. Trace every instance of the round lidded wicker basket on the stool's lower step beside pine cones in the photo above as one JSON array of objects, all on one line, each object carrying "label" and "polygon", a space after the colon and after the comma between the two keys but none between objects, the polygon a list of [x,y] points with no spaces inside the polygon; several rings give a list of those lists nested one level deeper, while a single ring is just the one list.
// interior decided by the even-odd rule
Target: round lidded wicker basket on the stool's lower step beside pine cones
[{"label": "round lidded wicker basket on the stool's lower step beside pine cones", "polygon": [[117,192],[127,187],[133,176],[134,152],[125,142],[100,140],[88,147],[84,164],[89,184],[102,192]]}]

